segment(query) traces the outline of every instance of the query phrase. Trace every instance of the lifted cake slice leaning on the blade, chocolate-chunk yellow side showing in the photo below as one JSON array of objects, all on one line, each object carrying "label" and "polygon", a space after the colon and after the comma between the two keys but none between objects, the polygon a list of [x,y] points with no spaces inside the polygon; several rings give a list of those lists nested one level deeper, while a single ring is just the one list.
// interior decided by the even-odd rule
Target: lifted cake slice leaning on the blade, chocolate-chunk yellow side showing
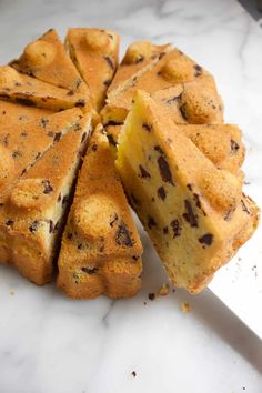
[{"label": "lifted cake slice leaning on the blade, chocolate-chunk yellow side showing", "polygon": [[[145,148],[147,147],[147,148]],[[119,138],[117,168],[175,286],[200,292],[252,235],[259,209],[138,91]]]}]

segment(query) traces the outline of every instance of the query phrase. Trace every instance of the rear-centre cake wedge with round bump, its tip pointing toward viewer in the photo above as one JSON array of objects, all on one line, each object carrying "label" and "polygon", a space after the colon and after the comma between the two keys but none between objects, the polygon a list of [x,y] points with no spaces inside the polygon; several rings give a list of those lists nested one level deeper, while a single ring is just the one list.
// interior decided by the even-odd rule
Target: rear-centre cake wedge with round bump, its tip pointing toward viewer
[{"label": "rear-centre cake wedge with round bump, its tip pointing toward viewer", "polygon": [[66,44],[100,110],[118,67],[119,36],[111,30],[69,29]]}]

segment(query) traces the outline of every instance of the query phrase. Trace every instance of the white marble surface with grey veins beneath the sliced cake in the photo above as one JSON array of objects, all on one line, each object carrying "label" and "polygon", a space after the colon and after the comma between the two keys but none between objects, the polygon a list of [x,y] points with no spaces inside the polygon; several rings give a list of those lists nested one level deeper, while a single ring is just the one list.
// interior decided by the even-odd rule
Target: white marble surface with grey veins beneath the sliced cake
[{"label": "white marble surface with grey veins beneath the sliced cake", "polygon": [[[172,41],[213,72],[226,121],[244,130],[246,190],[262,205],[262,31],[236,1],[1,0],[0,62],[69,26],[113,28],[122,50],[133,39]],[[243,264],[261,263],[261,234]],[[130,300],[71,301],[0,266],[0,393],[262,392],[261,341],[209,290],[147,299],[167,278],[143,241],[143,288]],[[261,304],[251,306],[261,319]]]}]

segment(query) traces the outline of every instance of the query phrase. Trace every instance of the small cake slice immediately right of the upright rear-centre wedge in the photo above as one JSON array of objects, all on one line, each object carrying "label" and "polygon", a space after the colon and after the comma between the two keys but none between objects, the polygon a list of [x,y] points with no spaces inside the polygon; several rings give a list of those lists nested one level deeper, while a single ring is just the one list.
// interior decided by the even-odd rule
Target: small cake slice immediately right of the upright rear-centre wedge
[{"label": "small cake slice immediately right of the upright rear-centre wedge", "polygon": [[150,70],[171,50],[172,46],[170,43],[163,46],[155,46],[150,41],[135,41],[131,43],[107,91],[108,100],[131,85],[135,79]]}]

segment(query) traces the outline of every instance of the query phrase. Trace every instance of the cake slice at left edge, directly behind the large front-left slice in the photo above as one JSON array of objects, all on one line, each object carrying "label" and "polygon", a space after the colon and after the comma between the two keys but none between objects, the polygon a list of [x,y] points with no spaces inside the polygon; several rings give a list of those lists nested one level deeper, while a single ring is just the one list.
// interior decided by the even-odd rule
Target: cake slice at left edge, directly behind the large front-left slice
[{"label": "cake slice at left edge, directly behind the large front-left slice", "polygon": [[24,173],[71,127],[78,127],[82,112],[70,109],[27,124],[0,130],[0,193]]}]

